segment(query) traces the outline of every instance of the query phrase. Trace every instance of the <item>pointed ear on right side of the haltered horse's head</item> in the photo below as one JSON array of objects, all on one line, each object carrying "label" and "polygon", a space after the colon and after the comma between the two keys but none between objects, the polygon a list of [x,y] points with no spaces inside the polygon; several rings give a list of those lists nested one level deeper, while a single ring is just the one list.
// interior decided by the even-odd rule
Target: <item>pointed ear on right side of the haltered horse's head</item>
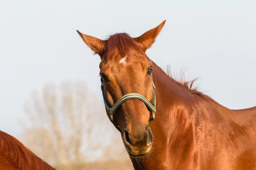
[{"label": "pointed ear on right side of the haltered horse's head", "polygon": [[142,45],[143,50],[146,51],[155,42],[157,35],[162,30],[165,22],[166,20],[160,23],[159,26],[152,28],[151,30],[148,30],[147,32],[142,34],[140,37],[135,37],[134,40],[137,41],[140,45]]}]

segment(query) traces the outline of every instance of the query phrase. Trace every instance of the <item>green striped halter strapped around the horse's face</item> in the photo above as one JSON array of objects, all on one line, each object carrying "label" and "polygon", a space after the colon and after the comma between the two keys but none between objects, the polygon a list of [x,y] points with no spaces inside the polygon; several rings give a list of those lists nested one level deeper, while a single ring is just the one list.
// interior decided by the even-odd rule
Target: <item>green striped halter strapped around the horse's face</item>
[{"label": "green striped halter strapped around the horse's face", "polygon": [[[150,61],[151,62],[151,61]],[[151,62],[152,63],[152,62]],[[155,119],[155,112],[156,112],[156,93],[155,93],[155,86],[154,86],[154,82],[153,82],[153,77],[152,77],[152,74],[151,74],[151,81],[152,81],[152,85],[153,85],[153,91],[154,91],[154,103],[153,105],[148,101],[148,99],[146,99],[144,96],[142,96],[141,94],[137,94],[137,93],[130,93],[130,94],[125,94],[124,96],[122,96],[114,105],[113,107],[111,108],[106,99],[105,99],[105,95],[104,95],[104,88],[103,88],[103,81],[102,81],[102,78],[101,78],[101,90],[102,90],[102,96],[103,96],[103,100],[104,100],[104,103],[105,103],[105,106],[108,110],[108,113],[110,115],[110,118],[111,118],[111,122],[113,123],[113,113],[116,111],[116,109],[122,105],[123,102],[129,100],[129,99],[139,99],[141,100],[142,102],[144,102],[144,104],[151,110],[152,112],[152,116],[149,120],[149,123],[150,124],[154,119]],[[115,125],[116,126],[116,125]],[[116,127],[117,128],[117,127]],[[118,129],[118,128],[117,128]],[[118,129],[119,130],[119,129]],[[120,130],[119,130],[120,131]],[[121,132],[121,131],[120,131]],[[122,133],[122,132],[121,132]]]}]

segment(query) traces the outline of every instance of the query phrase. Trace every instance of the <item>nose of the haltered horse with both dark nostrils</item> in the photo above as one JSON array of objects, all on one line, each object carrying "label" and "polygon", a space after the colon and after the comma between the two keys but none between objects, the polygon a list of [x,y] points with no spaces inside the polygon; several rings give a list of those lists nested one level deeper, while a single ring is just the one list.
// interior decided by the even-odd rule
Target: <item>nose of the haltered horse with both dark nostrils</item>
[{"label": "nose of the haltered horse with both dark nostrils", "polygon": [[143,130],[127,130],[124,132],[124,142],[128,146],[148,145],[153,142],[151,128],[147,125]]}]

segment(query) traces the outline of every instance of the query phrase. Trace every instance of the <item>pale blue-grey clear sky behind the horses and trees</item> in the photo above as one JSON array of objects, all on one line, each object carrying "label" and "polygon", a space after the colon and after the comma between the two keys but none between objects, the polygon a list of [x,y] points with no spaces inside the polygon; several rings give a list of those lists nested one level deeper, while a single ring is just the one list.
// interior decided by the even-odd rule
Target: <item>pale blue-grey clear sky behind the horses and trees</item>
[{"label": "pale blue-grey clear sky behind the horses and trees", "polygon": [[87,81],[102,97],[99,56],[77,29],[98,38],[124,31],[136,37],[163,20],[147,51],[154,62],[186,68],[228,108],[255,106],[255,9],[252,0],[1,0],[0,130],[17,137],[24,103],[47,82]]}]

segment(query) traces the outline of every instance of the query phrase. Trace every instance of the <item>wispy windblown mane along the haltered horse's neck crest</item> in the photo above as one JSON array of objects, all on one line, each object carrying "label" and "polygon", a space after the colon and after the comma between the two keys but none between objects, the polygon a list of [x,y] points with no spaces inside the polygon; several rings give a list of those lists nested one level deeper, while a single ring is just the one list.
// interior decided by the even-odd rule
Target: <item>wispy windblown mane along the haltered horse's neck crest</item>
[{"label": "wispy windblown mane along the haltered horse's neck crest", "polygon": [[201,91],[198,91],[198,86],[194,86],[194,82],[198,80],[198,78],[187,80],[185,77],[185,70],[181,70],[180,74],[173,74],[170,65],[166,66],[166,69],[163,69],[163,71],[171,78],[173,79],[178,85],[180,85],[181,88],[183,88],[185,91],[188,91],[191,94],[195,94],[200,96],[201,98],[215,102],[214,99],[212,99],[210,96],[203,94]]}]

